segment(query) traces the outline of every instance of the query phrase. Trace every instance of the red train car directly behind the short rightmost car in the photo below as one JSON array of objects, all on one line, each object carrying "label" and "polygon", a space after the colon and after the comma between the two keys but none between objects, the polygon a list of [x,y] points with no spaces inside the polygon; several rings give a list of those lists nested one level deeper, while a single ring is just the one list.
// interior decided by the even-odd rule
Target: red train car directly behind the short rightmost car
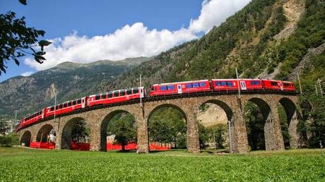
[{"label": "red train car directly behind the short rightmost car", "polygon": [[212,86],[215,91],[262,90],[263,83],[259,79],[213,79]]}]

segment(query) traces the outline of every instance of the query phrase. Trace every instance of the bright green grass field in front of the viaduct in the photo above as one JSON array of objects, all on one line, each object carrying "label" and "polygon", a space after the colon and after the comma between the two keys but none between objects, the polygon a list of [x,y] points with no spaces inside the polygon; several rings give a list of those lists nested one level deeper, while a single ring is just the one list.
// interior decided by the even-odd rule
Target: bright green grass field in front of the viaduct
[{"label": "bright green grass field in front of the viaduct", "polygon": [[239,154],[0,147],[0,181],[325,181],[320,150]]}]

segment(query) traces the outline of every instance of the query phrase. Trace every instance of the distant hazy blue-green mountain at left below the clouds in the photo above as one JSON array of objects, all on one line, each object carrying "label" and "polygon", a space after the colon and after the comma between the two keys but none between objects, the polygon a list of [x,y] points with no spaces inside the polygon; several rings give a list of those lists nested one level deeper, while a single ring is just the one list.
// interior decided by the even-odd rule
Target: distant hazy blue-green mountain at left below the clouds
[{"label": "distant hazy blue-green mountain at left below the clouds", "polygon": [[16,110],[18,117],[21,117],[52,105],[55,91],[57,102],[93,94],[103,80],[110,82],[148,59],[139,57],[85,64],[65,62],[28,77],[5,80],[0,83],[0,118],[12,117]]}]

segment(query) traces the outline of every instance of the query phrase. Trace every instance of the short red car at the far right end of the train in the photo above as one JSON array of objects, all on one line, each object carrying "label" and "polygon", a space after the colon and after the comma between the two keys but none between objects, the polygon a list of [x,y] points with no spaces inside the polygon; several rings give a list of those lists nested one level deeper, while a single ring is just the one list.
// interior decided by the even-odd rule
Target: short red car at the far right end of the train
[{"label": "short red car at the far right end of the train", "polygon": [[262,82],[266,90],[295,91],[295,85],[293,85],[293,82],[281,80],[262,80]]}]

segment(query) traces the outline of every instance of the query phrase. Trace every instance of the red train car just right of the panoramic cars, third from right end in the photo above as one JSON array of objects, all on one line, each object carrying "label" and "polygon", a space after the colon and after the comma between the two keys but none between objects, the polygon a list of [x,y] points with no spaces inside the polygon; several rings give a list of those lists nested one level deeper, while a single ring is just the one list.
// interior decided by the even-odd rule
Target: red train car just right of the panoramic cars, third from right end
[{"label": "red train car just right of the panoramic cars, third from right end", "polygon": [[150,96],[175,95],[191,92],[211,91],[208,80],[196,80],[178,83],[161,83],[150,87]]}]

